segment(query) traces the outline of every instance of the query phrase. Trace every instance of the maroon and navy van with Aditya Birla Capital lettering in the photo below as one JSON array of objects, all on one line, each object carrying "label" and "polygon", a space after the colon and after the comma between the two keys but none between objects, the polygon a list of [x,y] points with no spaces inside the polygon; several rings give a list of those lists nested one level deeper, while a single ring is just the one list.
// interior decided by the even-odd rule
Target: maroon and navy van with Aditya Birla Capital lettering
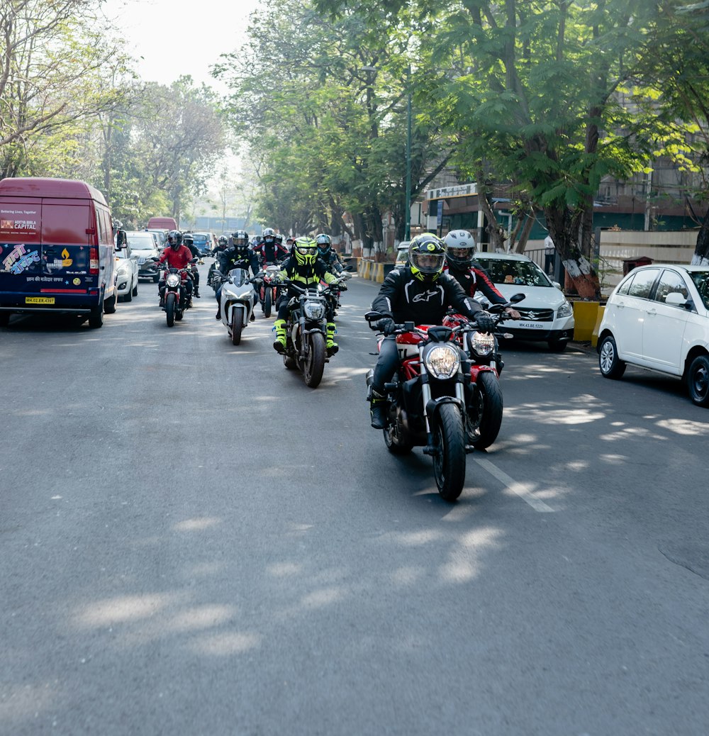
[{"label": "maroon and navy van with Aditya Birla Capital lettering", "polygon": [[0,325],[10,314],[116,311],[116,259],[101,192],[68,179],[0,181]]}]

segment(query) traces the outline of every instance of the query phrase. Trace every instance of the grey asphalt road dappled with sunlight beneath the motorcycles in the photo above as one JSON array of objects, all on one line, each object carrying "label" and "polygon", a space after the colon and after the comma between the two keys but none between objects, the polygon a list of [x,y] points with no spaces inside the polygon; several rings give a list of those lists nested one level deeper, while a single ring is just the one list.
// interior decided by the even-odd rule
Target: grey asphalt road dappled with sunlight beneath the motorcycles
[{"label": "grey asphalt road dappled with sunlight beneath the motorcycles", "polygon": [[707,732],[707,411],[509,345],[445,503],[369,427],[376,288],[314,390],[204,286],[0,330],[1,734]]}]

